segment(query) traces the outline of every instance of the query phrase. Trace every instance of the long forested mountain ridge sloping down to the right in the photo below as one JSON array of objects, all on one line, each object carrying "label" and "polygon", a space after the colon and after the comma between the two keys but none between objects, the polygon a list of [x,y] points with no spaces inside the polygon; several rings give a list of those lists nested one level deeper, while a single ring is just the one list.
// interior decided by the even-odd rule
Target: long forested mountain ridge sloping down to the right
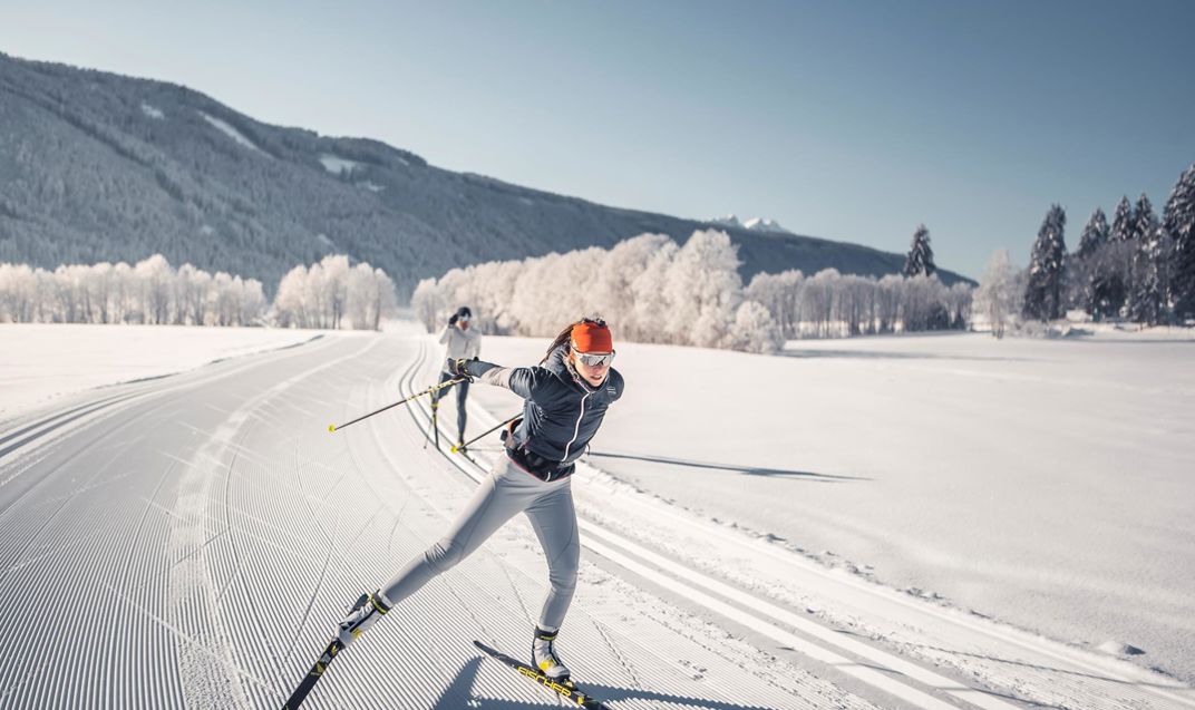
[{"label": "long forested mountain ridge sloping down to the right", "polygon": [[0,53],[0,94],[4,262],[54,268],[161,253],[272,289],[294,265],[339,252],[385,269],[405,298],[454,267],[722,228],[744,280],[831,267],[880,276],[903,265],[903,255],[866,246],[453,172],[374,139],[262,123],[166,81]]}]

